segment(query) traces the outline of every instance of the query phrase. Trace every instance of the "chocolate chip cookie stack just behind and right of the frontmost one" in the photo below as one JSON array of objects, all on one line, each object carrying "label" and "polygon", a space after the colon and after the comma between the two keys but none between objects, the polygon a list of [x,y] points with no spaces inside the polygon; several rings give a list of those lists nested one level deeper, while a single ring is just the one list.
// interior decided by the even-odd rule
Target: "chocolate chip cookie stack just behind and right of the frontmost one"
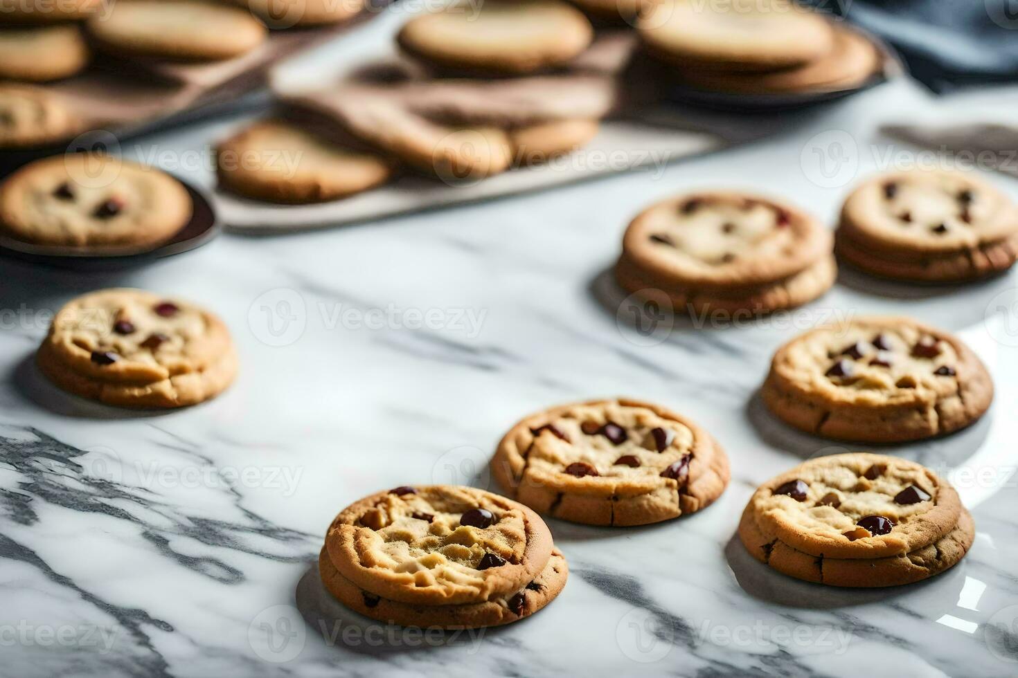
[{"label": "chocolate chip cookie stack just behind and right of the frontmost one", "polygon": [[705,508],[728,457],[701,428],[638,400],[592,400],[531,415],[499,443],[492,474],[517,501],[603,526],[659,522]]}]

